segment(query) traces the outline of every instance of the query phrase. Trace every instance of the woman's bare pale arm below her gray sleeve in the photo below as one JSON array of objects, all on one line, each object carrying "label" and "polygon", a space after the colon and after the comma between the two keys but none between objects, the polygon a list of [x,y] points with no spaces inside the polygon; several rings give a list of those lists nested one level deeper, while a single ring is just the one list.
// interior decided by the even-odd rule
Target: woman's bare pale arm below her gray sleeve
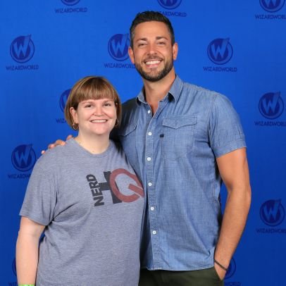
[{"label": "woman's bare pale arm below her gray sleeve", "polygon": [[39,256],[39,237],[45,226],[23,216],[16,244],[16,269],[18,284],[34,284]]}]

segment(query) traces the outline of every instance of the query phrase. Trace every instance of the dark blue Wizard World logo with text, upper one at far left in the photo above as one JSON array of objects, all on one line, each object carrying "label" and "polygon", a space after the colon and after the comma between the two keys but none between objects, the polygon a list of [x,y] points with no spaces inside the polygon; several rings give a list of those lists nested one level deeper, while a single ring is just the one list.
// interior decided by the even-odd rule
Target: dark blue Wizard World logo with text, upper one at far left
[{"label": "dark blue Wizard World logo with text, upper one at far left", "polygon": [[11,58],[18,66],[6,66],[6,70],[37,70],[38,65],[23,65],[32,59],[35,54],[35,44],[31,39],[31,35],[19,36],[13,39],[10,46]]}]

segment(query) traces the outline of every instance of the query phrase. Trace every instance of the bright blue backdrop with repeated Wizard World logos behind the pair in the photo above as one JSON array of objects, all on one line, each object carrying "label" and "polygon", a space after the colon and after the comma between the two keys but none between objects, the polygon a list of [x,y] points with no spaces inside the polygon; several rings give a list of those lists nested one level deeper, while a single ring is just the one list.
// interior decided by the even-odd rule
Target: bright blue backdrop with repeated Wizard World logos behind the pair
[{"label": "bright blue backdrop with repeated Wizard World logos behind the pair", "polygon": [[229,97],[247,136],[253,201],[225,285],[285,285],[285,0],[1,1],[0,285],[16,285],[32,167],[48,143],[73,133],[63,119],[69,89],[103,75],[122,101],[137,95],[128,31],[148,9],[173,23],[182,80]]}]

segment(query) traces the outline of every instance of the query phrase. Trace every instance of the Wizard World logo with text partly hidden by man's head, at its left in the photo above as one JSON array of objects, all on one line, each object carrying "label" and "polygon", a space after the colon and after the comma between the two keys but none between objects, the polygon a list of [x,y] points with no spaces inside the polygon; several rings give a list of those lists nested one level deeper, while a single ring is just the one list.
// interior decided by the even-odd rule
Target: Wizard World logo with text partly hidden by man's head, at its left
[{"label": "Wizard World logo with text partly hidden by man's head, at its left", "polygon": [[[105,68],[135,68],[132,63],[123,63],[129,58],[128,48],[130,46],[129,34],[113,35],[107,45],[108,54],[115,60],[113,63],[104,63]],[[118,63],[119,62],[119,63]]]}]

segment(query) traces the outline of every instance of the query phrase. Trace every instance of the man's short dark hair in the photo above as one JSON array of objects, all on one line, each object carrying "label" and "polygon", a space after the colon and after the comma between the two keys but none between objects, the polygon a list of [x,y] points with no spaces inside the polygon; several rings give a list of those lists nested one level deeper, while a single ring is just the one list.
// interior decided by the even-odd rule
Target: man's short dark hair
[{"label": "man's short dark hair", "polygon": [[135,19],[132,21],[131,27],[130,27],[130,46],[133,49],[133,40],[135,37],[135,27],[141,23],[145,22],[151,22],[151,21],[156,21],[156,22],[162,22],[165,23],[166,26],[168,27],[168,31],[170,33],[170,38],[173,44],[175,44],[175,34],[174,34],[174,29],[172,24],[170,23],[170,20],[164,16],[163,14],[156,12],[156,11],[144,11],[141,13],[137,13]]}]

